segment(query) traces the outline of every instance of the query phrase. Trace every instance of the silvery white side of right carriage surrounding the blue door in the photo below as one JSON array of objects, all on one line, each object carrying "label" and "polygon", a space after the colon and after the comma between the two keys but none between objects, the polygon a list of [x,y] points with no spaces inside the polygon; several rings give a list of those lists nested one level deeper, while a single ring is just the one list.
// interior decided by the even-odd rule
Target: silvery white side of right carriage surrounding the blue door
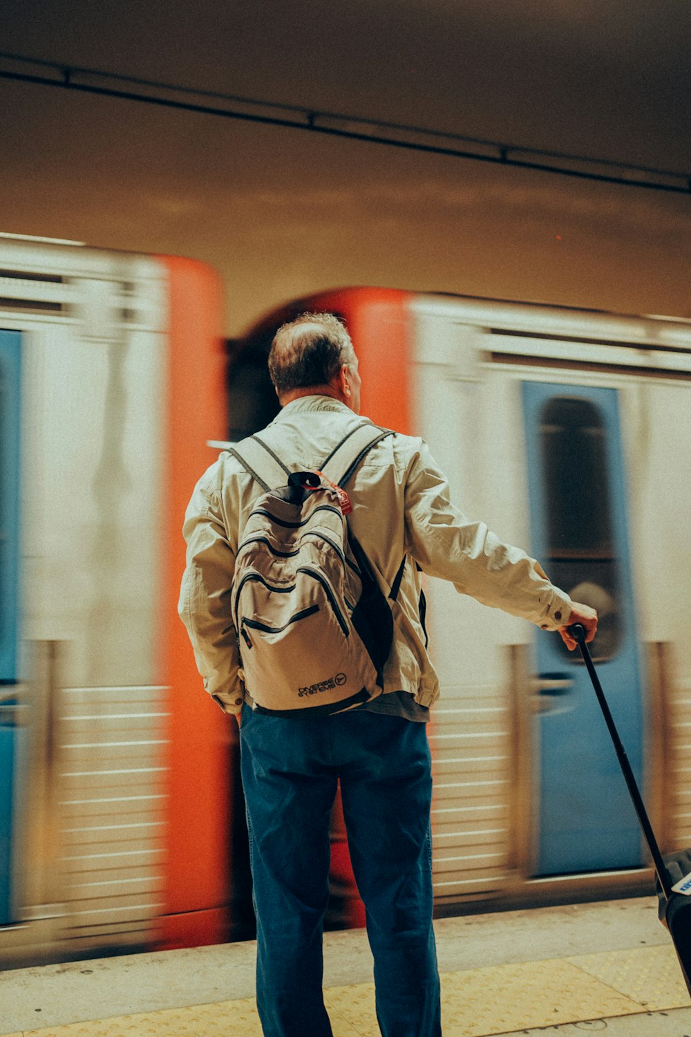
[{"label": "silvery white side of right carriage surrounding the blue door", "polygon": [[[416,299],[412,310],[418,427],[459,506],[528,552],[535,541],[522,384],[559,386],[565,397],[583,389],[616,393],[633,589],[617,607],[633,616],[640,646],[643,784],[663,844],[688,844],[691,324],[435,297]],[[574,445],[572,475],[580,464]],[[553,897],[557,886],[564,896],[589,895],[638,877],[650,885],[636,875],[635,861],[539,877],[539,758],[554,707],[543,713],[536,644],[549,636],[488,612],[451,585],[430,581],[429,598],[443,688],[431,732],[438,900],[539,899]],[[559,669],[567,675],[570,664]],[[603,664],[615,703],[627,690],[608,688],[608,676]],[[569,708],[568,690],[565,699]],[[600,718],[588,714],[593,722]],[[584,734],[574,728],[574,738]],[[615,766],[609,774],[622,790]],[[610,791],[600,788],[605,798]]]}]

